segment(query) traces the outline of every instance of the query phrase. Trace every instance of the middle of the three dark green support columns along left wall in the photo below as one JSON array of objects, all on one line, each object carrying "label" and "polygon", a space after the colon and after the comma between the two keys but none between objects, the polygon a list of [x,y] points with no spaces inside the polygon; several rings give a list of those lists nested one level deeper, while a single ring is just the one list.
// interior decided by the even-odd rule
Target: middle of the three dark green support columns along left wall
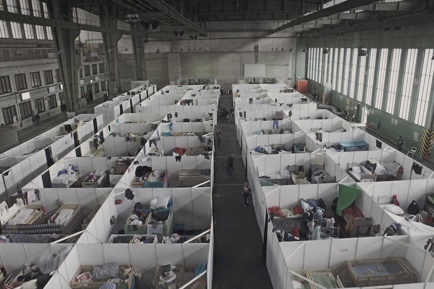
[{"label": "middle of the three dark green support columns along left wall", "polygon": [[[101,7],[101,26],[116,29],[117,20],[114,18],[116,15],[114,7],[104,6]],[[119,75],[117,72],[117,42],[121,39],[120,34],[101,33],[103,37],[103,45],[106,53],[107,61],[107,93],[108,99],[111,100],[116,97],[119,87]]]}]

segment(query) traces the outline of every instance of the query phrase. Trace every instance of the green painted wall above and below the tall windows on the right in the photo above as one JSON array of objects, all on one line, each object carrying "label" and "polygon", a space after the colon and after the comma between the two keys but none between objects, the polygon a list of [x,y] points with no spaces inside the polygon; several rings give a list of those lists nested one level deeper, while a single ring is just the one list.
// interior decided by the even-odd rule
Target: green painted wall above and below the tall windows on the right
[{"label": "green painted wall above and below the tall windows on the right", "polygon": [[[402,49],[410,49],[417,48],[419,52],[421,49],[426,48],[434,48],[434,24],[424,24],[424,25],[414,25],[414,26],[406,26],[400,29],[391,29],[391,30],[371,30],[364,32],[348,32],[344,34],[331,34],[324,35],[319,37],[308,37],[307,39],[307,47],[342,47],[342,48],[402,48]],[[297,53],[300,53],[297,51]],[[420,59],[420,58],[419,58]],[[401,61],[404,61],[401,59]],[[420,61],[420,60],[419,60]],[[418,65],[418,64],[416,64]],[[401,65],[403,66],[403,65]],[[403,68],[401,67],[401,70]],[[307,70],[307,69],[306,69]],[[417,72],[417,71],[416,71]],[[345,72],[344,72],[345,73]],[[388,72],[387,72],[388,75]],[[400,72],[402,77],[402,71]],[[417,73],[416,73],[417,75]],[[420,76],[420,75],[419,75]],[[307,75],[305,75],[307,79]],[[312,81],[308,79],[309,86],[308,89],[310,92],[316,88],[321,94],[323,92],[324,86],[321,83]],[[398,91],[397,91],[397,102],[395,106],[395,115],[398,115],[398,108],[400,102],[400,92],[402,85],[401,82],[398,83]],[[365,81],[366,86],[367,81]],[[375,89],[375,87],[374,87]],[[431,98],[434,95],[434,83],[431,87]],[[412,120],[415,114],[415,105],[416,102],[414,98],[417,97],[416,93],[413,91],[413,101],[410,105],[410,115],[409,118]],[[374,97],[373,97],[374,98]],[[332,91],[332,101],[331,105],[335,106],[338,110],[346,110],[347,97],[342,95],[336,91]],[[362,113],[365,108],[365,104],[359,104],[358,112],[356,115],[356,121],[362,121]],[[428,112],[433,111],[434,101],[431,99],[428,105]],[[411,121],[405,121],[403,119],[398,118],[395,115],[388,114],[382,110],[374,109],[370,107],[372,114],[368,116],[368,124],[372,126],[372,129],[375,133],[381,135],[388,141],[392,143],[396,143],[398,140],[398,136],[401,135],[404,138],[404,149],[409,150],[413,146],[417,148],[417,151],[420,150],[420,141],[422,138],[423,127],[415,125]],[[432,115],[427,116],[427,125],[430,123],[430,118],[434,117]],[[378,124],[380,124],[378,128]],[[416,133],[416,135],[414,134]],[[414,138],[416,136],[416,138]],[[434,161],[434,153],[431,154],[430,160]]]}]

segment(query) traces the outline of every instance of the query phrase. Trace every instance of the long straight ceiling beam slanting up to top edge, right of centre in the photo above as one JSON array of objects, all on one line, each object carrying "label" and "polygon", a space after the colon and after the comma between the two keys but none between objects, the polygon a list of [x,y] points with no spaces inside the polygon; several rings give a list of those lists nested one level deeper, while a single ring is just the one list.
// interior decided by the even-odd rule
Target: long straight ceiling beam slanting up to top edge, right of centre
[{"label": "long straight ceiling beam slanting up to top edge, right of centre", "polygon": [[377,1],[376,0],[348,0],[348,1],[345,1],[343,3],[334,5],[332,7],[320,10],[318,12],[314,12],[314,13],[309,14],[307,16],[303,16],[303,17],[300,17],[296,20],[293,20],[291,22],[283,24],[283,25],[271,30],[270,34],[274,34],[276,32],[279,32],[281,30],[285,30],[285,29],[290,28],[290,27],[305,24],[305,23],[313,21],[313,20],[325,18],[325,17],[333,15],[333,14],[341,13],[341,12],[348,11],[348,10],[353,10],[354,8],[357,8],[357,7],[360,7],[363,5],[372,4],[375,2],[377,2]]}]

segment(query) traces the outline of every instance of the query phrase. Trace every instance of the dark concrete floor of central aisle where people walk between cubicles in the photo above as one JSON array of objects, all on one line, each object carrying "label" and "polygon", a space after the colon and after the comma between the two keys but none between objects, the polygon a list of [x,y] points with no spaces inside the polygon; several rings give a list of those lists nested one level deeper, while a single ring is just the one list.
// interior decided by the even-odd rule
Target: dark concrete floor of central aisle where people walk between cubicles
[{"label": "dark concrete floor of central aisle where people walk between cubicles", "polygon": [[[229,110],[231,95],[222,95],[220,106]],[[242,195],[247,181],[241,158],[236,126],[219,120],[215,129],[222,130],[221,147],[215,148],[212,207],[214,218],[213,289],[272,288],[263,262],[262,237],[250,206],[244,209]],[[234,154],[234,175],[226,172],[227,157]]]}]

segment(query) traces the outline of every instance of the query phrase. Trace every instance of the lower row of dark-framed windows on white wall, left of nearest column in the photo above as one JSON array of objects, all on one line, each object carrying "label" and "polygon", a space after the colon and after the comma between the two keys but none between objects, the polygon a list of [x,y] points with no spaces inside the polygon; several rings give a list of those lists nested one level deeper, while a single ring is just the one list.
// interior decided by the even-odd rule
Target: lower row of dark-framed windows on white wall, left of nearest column
[{"label": "lower row of dark-framed windows on white wall, left of nearest column", "polygon": [[[48,95],[47,101],[48,101],[48,109],[49,110],[57,108],[57,100],[56,100],[55,94]],[[45,102],[44,102],[43,98],[36,99],[36,100],[34,100],[34,102],[35,102],[35,110],[37,113],[45,112]],[[19,107],[20,107],[22,120],[30,118],[33,116],[31,101],[21,103],[21,104],[19,104]],[[16,117],[18,120],[16,106],[10,106],[10,107],[3,108],[4,124],[14,123],[14,117]]]}]

